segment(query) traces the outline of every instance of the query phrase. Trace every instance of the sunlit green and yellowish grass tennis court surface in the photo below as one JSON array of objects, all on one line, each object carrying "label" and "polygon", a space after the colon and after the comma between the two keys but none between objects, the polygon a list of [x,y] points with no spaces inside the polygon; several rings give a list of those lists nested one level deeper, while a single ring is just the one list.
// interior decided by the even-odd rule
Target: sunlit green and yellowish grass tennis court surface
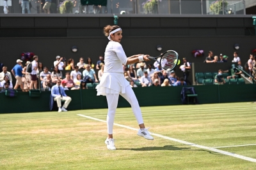
[{"label": "sunlit green and yellowish grass tennis court surface", "polygon": [[[256,161],[256,104],[142,107],[150,132]],[[0,115],[0,169],[256,169],[256,162],[114,126],[115,146],[104,144],[106,109]],[[115,123],[138,128],[131,108]],[[242,145],[242,146],[237,146]],[[227,146],[220,148],[222,146]]]}]

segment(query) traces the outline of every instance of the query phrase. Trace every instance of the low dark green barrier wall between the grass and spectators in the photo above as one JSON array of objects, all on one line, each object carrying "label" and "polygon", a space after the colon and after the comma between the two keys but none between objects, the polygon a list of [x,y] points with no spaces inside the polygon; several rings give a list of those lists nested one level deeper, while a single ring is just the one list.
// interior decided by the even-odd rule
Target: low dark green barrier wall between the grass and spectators
[{"label": "low dark green barrier wall between the grass and spectators", "polygon": [[[182,87],[135,88],[140,106],[163,106],[182,104]],[[195,86],[200,104],[256,101],[256,85],[198,85]],[[66,91],[72,98],[68,110],[108,108],[105,96],[96,96],[94,89]],[[6,97],[0,93],[0,113],[20,113],[49,111],[51,92],[42,92],[41,97],[29,97],[28,92],[19,92],[17,97]],[[129,107],[123,97],[119,97],[118,107]],[[54,111],[57,111],[56,103]]]}]

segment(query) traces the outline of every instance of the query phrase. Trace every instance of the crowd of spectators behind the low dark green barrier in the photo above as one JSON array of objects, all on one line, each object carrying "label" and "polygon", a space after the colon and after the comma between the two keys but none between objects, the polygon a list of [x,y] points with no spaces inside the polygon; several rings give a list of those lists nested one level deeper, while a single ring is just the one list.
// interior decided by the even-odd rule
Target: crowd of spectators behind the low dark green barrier
[{"label": "crowd of spectators behind the low dark green barrier", "polygon": [[[50,69],[44,67],[42,62],[38,62],[38,56],[36,55],[33,57],[32,62],[27,61],[23,63],[20,59],[16,62],[12,69],[8,69],[3,64],[1,65],[0,92],[6,89],[18,88],[24,92],[28,92],[30,89],[51,90],[58,81],[61,81],[61,87],[65,90],[87,89],[88,83],[97,85],[104,73],[104,57],[102,56],[99,56],[96,65],[93,64],[90,57],[88,57],[86,62],[81,57],[76,64],[74,59],[66,60],[65,57],[56,56],[56,60]],[[161,60],[161,62],[162,66],[164,66],[165,61]],[[213,57],[213,52],[210,51],[204,62],[228,62],[228,57],[222,54]],[[237,52],[234,52],[232,62],[237,62],[238,69],[234,69],[234,73],[228,79],[237,78],[241,74],[241,69],[243,69]],[[137,64],[123,66],[123,68],[124,76],[130,82],[131,87],[138,87],[139,85],[141,87],[191,85],[191,82],[188,80],[191,64],[186,58],[183,58],[182,64],[177,67],[182,71],[183,77],[177,77],[175,71],[164,71],[157,61],[154,64],[147,65],[145,62],[138,62]],[[97,70],[97,75],[95,69]],[[244,69],[248,70],[250,76],[256,78],[256,56],[250,55]],[[63,73],[63,70],[65,70],[65,73]],[[223,72],[225,71],[218,71],[218,75],[216,75],[214,80],[215,83],[225,83],[225,80],[221,77]],[[12,74],[16,80],[15,85],[12,83]]]}]

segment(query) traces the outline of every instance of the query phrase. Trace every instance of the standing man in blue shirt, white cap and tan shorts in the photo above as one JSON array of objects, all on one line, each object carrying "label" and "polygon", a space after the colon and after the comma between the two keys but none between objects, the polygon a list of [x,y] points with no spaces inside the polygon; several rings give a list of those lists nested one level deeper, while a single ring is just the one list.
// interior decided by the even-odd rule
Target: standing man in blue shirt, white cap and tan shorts
[{"label": "standing man in blue shirt, white cap and tan shorts", "polygon": [[18,87],[20,86],[20,89],[23,90],[22,67],[21,67],[22,60],[18,59],[16,62],[17,64],[12,69],[12,74],[16,78],[16,84],[13,89],[18,89]]}]

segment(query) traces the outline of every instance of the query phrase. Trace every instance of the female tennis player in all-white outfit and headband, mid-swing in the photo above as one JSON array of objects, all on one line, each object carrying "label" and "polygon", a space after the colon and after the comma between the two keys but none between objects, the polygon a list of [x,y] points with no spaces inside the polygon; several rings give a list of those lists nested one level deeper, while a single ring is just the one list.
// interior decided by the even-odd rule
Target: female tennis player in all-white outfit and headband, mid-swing
[{"label": "female tennis player in all-white outfit and headband, mid-swing", "polygon": [[138,100],[129,82],[124,78],[124,69],[122,66],[123,64],[129,65],[143,60],[148,61],[149,59],[147,57],[149,55],[132,55],[127,58],[122,45],[120,45],[122,29],[117,25],[107,25],[103,30],[105,36],[108,36],[110,41],[105,50],[104,73],[96,89],[97,96],[106,96],[108,101],[108,138],[105,141],[107,148],[109,150],[116,150],[113,139],[113,125],[119,95],[124,97],[132,106],[132,111],[140,127],[137,133],[138,136],[153,140],[154,138],[150,136],[143,123]]}]

